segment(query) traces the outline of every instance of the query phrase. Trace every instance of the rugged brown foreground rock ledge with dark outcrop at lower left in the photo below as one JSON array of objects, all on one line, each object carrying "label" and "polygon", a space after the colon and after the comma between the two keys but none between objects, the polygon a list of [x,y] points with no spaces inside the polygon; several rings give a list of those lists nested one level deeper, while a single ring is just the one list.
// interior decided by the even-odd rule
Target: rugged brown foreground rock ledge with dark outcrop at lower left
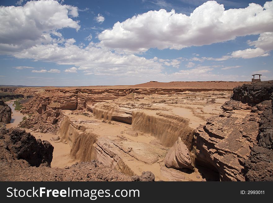
[{"label": "rugged brown foreground rock ledge with dark outcrop at lower left", "polygon": [[154,181],[150,171],[128,176],[99,161],[51,168],[52,152],[49,142],[36,140],[25,130],[0,129],[0,181]]}]

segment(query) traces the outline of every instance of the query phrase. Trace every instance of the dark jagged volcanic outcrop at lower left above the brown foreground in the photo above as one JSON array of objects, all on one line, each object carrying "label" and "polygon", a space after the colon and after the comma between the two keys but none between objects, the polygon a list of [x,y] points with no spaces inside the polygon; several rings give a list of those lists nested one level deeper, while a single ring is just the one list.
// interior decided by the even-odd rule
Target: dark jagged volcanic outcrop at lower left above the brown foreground
[{"label": "dark jagged volcanic outcrop at lower left above the brown foreground", "polygon": [[31,166],[50,166],[54,147],[48,141],[36,140],[33,135],[19,128],[1,130],[0,134],[4,135],[4,142],[15,159],[24,159]]}]

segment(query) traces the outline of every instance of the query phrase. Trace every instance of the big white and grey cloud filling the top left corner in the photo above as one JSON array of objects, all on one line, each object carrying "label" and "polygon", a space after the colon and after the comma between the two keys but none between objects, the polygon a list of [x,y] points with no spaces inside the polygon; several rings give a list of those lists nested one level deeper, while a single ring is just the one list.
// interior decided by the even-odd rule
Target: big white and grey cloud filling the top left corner
[{"label": "big white and grey cloud filling the top left corner", "polygon": [[[24,6],[0,7],[0,53],[9,54],[37,44],[49,44],[61,37],[58,29],[78,30],[77,7],[54,0],[29,1]],[[59,39],[60,40],[60,39]]]}]

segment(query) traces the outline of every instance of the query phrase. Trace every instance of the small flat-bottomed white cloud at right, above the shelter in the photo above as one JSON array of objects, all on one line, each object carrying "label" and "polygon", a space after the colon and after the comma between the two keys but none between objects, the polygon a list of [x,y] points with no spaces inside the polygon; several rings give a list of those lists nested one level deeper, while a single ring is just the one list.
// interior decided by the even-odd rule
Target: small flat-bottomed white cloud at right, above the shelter
[{"label": "small flat-bottomed white cloud at right, above the shelter", "polygon": [[233,51],[231,53],[231,56],[233,58],[243,58],[243,59],[250,59],[250,58],[255,58],[258,56],[268,56],[268,55],[269,53],[265,53],[265,51],[261,48],[238,50],[238,51]]}]

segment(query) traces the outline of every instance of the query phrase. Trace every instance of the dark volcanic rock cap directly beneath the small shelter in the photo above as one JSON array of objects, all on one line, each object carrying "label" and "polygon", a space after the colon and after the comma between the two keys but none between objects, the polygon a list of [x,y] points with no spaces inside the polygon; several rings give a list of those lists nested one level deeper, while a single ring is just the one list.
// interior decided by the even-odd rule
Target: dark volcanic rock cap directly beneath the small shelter
[{"label": "dark volcanic rock cap directly beneath the small shelter", "polygon": [[273,93],[273,80],[262,81],[252,84],[244,84],[243,86],[233,89],[231,99],[249,104],[259,104],[262,101],[270,100]]}]

